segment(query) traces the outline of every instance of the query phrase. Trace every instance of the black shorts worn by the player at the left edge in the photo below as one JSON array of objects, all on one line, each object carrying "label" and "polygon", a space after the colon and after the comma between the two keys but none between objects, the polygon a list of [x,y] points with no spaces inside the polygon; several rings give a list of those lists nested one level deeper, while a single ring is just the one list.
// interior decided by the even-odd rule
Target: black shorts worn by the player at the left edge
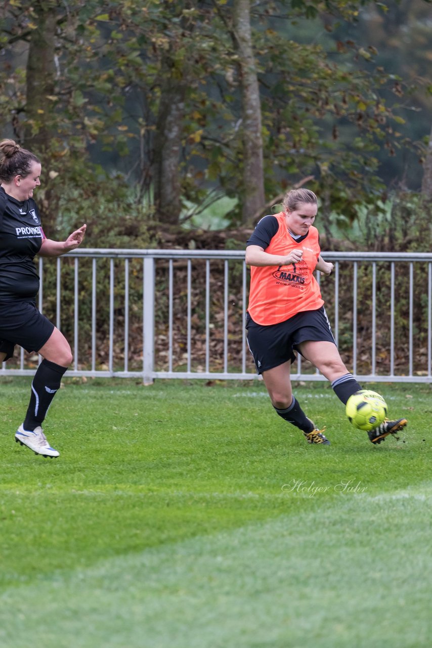
[{"label": "black shorts worn by the player at the left edge", "polygon": [[54,324],[28,301],[0,302],[0,352],[12,358],[18,344],[26,351],[39,351],[49,340]]}]

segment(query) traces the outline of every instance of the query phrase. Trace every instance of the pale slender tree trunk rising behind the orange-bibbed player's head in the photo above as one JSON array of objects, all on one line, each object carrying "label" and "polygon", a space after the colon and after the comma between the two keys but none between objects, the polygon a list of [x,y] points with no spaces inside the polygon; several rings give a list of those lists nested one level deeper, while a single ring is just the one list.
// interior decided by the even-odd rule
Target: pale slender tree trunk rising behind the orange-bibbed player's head
[{"label": "pale slender tree trunk rising behind the orange-bibbed player's head", "polygon": [[251,36],[249,0],[234,0],[233,26],[238,46],[242,94],[243,202],[242,221],[248,222],[264,203],[264,164],[261,102]]}]

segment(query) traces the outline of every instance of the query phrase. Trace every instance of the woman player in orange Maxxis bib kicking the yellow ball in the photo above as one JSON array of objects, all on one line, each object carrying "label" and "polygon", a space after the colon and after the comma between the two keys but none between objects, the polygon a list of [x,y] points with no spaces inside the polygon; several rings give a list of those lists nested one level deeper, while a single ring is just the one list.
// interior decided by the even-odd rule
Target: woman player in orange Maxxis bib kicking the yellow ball
[{"label": "woman player in orange Maxxis bib kicking the yellow ball", "polygon": [[[279,214],[264,216],[247,240],[246,263],[251,266],[247,343],[279,416],[302,430],[308,443],[330,445],[325,428],[318,430],[293,396],[293,352],[301,353],[330,380],[343,404],[361,386],[337,351],[313,275],[315,270],[330,274],[333,268],[321,257],[313,226],[317,196],[308,189],[289,191],[283,208]],[[385,419],[367,434],[372,443],[381,443],[406,424],[405,419]]]}]

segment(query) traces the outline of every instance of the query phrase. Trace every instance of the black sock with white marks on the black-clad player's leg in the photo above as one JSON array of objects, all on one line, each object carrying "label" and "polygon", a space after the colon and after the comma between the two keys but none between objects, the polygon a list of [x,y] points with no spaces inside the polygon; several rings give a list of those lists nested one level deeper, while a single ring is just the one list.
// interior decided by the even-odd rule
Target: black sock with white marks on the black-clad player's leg
[{"label": "black sock with white marks on the black-clad player's leg", "polygon": [[45,358],[42,360],[33,378],[30,402],[23,422],[23,428],[28,432],[33,432],[34,428],[42,424],[65,371],[67,367],[61,367]]}]

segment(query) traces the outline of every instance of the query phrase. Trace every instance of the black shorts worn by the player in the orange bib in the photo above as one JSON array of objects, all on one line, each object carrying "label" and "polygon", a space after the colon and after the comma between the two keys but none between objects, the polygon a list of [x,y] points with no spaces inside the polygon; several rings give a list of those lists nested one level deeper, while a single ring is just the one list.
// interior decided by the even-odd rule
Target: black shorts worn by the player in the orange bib
[{"label": "black shorts worn by the player in the orange bib", "polygon": [[295,360],[297,345],[308,340],[333,342],[330,322],[324,307],[305,310],[279,324],[257,324],[249,313],[246,315],[247,344],[253,356],[256,371],[263,373],[279,367],[288,360]]}]

